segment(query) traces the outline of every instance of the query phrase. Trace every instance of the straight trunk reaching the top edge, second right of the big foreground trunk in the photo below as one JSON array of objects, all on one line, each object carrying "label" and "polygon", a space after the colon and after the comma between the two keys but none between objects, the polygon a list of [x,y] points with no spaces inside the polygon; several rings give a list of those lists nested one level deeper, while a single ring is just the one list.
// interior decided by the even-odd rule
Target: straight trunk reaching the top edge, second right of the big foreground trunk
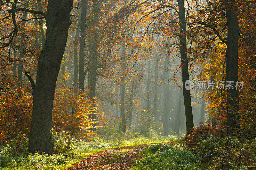
[{"label": "straight trunk reaching the top edge, second right of the big foreground trunk", "polygon": [[86,5],[87,0],[82,0],[82,11],[81,11],[81,22],[80,22],[80,30],[81,30],[81,39],[79,45],[79,90],[80,92],[84,92],[84,49],[85,49],[85,31],[86,31]]}]

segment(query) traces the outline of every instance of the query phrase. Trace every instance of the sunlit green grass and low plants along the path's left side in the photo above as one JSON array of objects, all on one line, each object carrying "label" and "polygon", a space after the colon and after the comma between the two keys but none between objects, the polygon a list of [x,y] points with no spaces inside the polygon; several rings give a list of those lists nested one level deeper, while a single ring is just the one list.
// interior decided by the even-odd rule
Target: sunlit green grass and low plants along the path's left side
[{"label": "sunlit green grass and low plants along the path's left side", "polygon": [[[101,141],[95,140],[92,142],[86,142],[83,140],[73,141],[72,153],[68,153],[69,156],[62,154],[56,154],[52,156],[48,155],[28,155],[27,153],[12,154],[7,152],[6,147],[0,147],[0,169],[3,170],[32,170],[32,169],[42,169],[42,170],[61,170],[74,165],[76,162],[81,161],[84,157],[94,154],[96,152],[124,146],[133,146],[140,144],[158,143],[158,142],[168,142],[175,139],[173,136],[169,137],[138,137],[130,140],[123,141]],[[7,146],[9,147],[9,146]],[[59,146],[61,147],[61,146]],[[65,154],[67,154],[65,152]],[[72,155],[73,154],[73,155]],[[113,160],[115,161],[115,160]],[[2,166],[2,167],[1,167]]]}]

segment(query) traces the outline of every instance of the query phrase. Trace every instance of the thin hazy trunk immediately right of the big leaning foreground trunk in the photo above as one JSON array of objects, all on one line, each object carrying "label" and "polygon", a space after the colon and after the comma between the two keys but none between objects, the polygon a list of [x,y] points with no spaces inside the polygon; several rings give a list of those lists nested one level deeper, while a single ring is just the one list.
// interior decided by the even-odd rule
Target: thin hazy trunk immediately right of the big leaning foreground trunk
[{"label": "thin hazy trunk immediately right of the big leaning foreground trunk", "polygon": [[78,90],[78,86],[77,86],[77,82],[78,82],[78,55],[77,55],[77,46],[78,46],[78,37],[80,34],[80,27],[77,26],[76,29],[76,35],[75,35],[75,43],[74,43],[74,87],[75,90],[77,92]]}]

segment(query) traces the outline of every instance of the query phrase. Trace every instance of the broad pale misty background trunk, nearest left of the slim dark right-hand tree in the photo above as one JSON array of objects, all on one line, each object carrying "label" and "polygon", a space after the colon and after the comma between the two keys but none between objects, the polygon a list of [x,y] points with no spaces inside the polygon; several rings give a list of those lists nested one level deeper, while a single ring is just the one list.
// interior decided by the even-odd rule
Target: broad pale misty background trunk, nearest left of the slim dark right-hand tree
[{"label": "broad pale misty background trunk, nearest left of the slim dark right-hand tree", "polygon": [[168,83],[168,79],[169,79],[169,64],[170,64],[170,53],[169,51],[166,54],[166,60],[165,60],[165,64],[164,64],[164,136],[168,136],[168,132],[169,132],[169,122],[170,122],[170,118],[169,118],[169,83]]}]

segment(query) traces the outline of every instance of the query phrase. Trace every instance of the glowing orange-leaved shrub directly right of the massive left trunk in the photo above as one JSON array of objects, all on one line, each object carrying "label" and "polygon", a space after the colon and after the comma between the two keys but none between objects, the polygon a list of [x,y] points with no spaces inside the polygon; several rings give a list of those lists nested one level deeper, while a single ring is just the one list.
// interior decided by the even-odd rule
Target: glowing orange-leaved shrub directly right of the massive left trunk
[{"label": "glowing orange-leaved shrub directly right of the massive left trunk", "polygon": [[71,135],[91,138],[93,122],[89,119],[92,111],[96,111],[97,102],[88,99],[86,93],[75,92],[66,86],[55,93],[53,104],[53,128],[69,130]]}]

